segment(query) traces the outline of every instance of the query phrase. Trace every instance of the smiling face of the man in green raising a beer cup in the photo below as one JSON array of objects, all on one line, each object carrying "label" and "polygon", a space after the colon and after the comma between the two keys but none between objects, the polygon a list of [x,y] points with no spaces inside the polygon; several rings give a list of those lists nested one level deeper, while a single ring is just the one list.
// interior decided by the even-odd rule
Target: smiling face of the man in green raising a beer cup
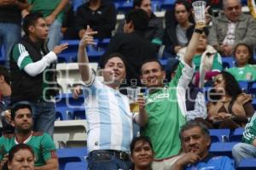
[{"label": "smiling face of the man in green raising a beer cup", "polygon": [[150,61],[142,66],[142,82],[147,88],[163,87],[164,79],[166,78],[165,71],[162,71],[161,66],[156,61]]}]

